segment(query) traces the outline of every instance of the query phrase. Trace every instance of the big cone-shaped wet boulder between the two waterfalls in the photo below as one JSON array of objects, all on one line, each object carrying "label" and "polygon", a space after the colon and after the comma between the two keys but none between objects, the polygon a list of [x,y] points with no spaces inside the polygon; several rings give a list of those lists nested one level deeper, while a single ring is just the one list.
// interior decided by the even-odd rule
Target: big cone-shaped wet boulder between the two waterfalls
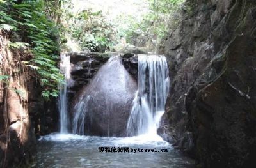
[{"label": "big cone-shaped wet boulder between the two waterfalls", "polygon": [[[111,57],[74,97],[74,133],[98,136],[126,135],[132,100],[138,86],[122,65],[122,58]],[[81,118],[84,118],[81,120]]]}]

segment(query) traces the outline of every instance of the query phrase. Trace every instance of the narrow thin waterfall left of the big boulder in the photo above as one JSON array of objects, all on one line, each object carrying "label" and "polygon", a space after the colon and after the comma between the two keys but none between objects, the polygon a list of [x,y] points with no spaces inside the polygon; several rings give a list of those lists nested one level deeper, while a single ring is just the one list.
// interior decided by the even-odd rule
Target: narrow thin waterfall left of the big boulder
[{"label": "narrow thin waterfall left of the big boulder", "polygon": [[66,54],[61,54],[60,62],[60,73],[63,73],[65,81],[59,83],[59,112],[60,112],[60,132],[68,133],[69,118],[67,110],[67,89],[69,86],[72,86],[73,80],[70,76],[70,56]]}]

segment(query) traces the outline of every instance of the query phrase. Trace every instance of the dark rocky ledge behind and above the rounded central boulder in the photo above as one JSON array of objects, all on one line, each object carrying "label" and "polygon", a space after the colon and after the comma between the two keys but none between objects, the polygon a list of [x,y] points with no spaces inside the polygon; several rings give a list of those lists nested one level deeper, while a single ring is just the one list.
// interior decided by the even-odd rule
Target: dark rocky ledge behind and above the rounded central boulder
[{"label": "dark rocky ledge behind and above the rounded central boulder", "polygon": [[74,80],[74,85],[70,87],[70,91],[79,91],[83,86],[86,86],[93,79],[99,68],[108,61],[111,56],[121,56],[122,63],[129,73],[137,79],[138,73],[138,57],[134,54],[122,54],[118,52],[109,53],[77,53],[72,52],[70,55],[71,77]]}]

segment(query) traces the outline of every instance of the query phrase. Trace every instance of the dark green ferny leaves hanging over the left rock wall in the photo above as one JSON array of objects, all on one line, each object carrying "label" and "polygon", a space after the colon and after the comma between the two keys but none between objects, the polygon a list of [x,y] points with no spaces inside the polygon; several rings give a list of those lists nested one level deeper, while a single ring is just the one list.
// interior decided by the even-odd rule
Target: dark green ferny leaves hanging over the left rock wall
[{"label": "dark green ferny leaves hanging over the left rock wall", "polygon": [[11,49],[26,49],[33,54],[33,59],[22,63],[36,70],[44,88],[42,96],[49,98],[58,96],[62,77],[57,67],[59,32],[45,13],[46,4],[43,0],[0,0],[0,31],[10,34]]}]

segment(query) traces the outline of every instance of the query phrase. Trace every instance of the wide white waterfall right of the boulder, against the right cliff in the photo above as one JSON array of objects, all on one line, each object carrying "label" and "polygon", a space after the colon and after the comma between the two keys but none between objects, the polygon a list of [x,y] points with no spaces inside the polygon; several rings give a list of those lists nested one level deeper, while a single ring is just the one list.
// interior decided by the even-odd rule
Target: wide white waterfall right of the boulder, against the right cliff
[{"label": "wide white waterfall right of the boulder, against the right cliff", "polygon": [[138,55],[138,91],[127,123],[128,136],[156,134],[164,114],[169,85],[164,56]]}]

